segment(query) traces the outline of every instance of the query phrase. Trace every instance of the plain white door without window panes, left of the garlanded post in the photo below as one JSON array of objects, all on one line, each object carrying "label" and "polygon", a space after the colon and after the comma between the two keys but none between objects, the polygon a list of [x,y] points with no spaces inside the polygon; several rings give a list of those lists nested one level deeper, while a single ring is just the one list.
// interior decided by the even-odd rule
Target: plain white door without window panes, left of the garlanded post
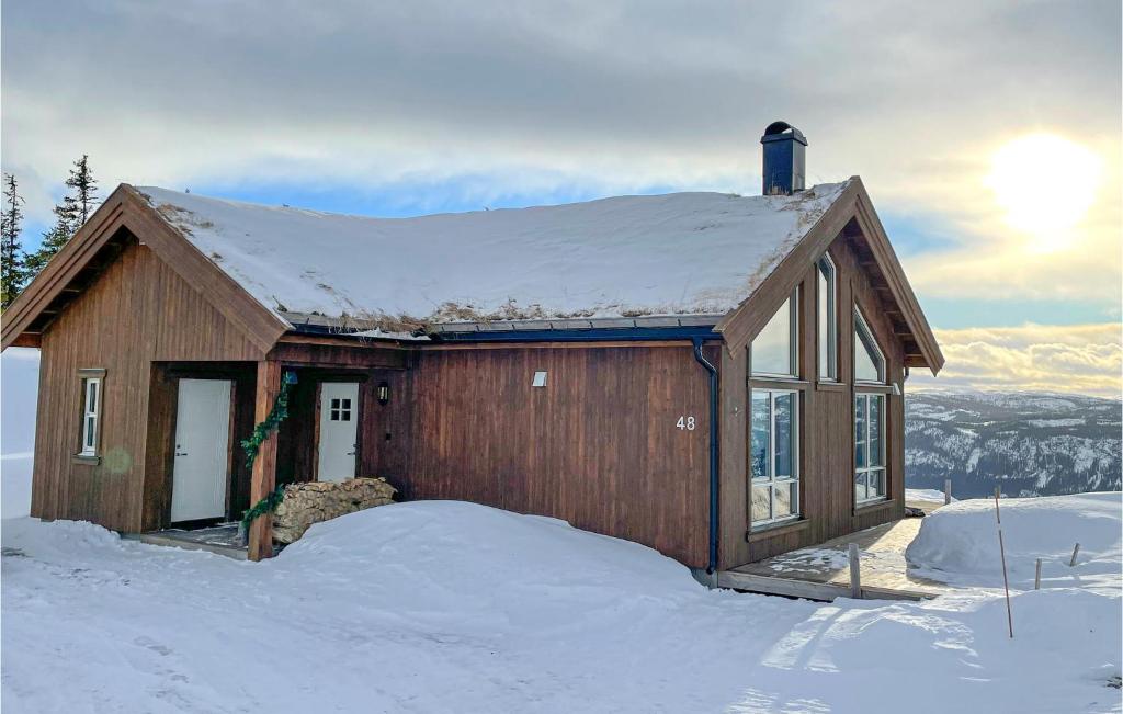
[{"label": "plain white door without window panes, left of the garlanded post", "polygon": [[226,516],[230,382],[180,379],[172,522]]}]

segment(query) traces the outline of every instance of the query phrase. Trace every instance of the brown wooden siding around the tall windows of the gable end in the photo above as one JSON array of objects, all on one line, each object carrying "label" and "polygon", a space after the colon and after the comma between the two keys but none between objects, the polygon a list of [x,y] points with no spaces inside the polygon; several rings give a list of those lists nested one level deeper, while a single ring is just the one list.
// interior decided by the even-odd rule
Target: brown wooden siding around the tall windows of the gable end
[{"label": "brown wooden siding around the tall windows of the gable end", "polygon": [[[889,394],[886,420],[887,503],[855,507],[853,500],[853,320],[857,303],[885,353],[891,382],[902,384],[904,353],[885,305],[860,265],[855,237],[839,236],[830,246],[839,285],[838,385],[819,384],[816,346],[816,275],[809,262],[800,282],[800,366],[804,379],[784,384],[800,393],[801,510],[803,519],[772,531],[749,531],[748,388],[751,368],[745,350],[727,350],[722,360],[722,539],[721,567],[731,568],[780,552],[822,542],[904,514],[904,399]],[[785,293],[786,294],[786,293]],[[775,309],[783,295],[773,296]],[[770,312],[768,313],[770,317]],[[767,321],[767,318],[764,319]],[[758,322],[761,322],[758,320]],[[763,322],[761,322],[763,323]],[[763,387],[767,386],[761,384]]]}]

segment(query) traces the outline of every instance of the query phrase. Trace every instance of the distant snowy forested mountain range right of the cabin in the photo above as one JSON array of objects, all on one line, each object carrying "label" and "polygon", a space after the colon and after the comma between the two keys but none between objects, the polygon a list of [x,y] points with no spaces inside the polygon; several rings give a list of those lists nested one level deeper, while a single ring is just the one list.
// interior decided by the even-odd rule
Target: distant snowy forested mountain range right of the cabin
[{"label": "distant snowy forested mountain range right of the cabin", "polygon": [[975,498],[1120,491],[1123,404],[1030,392],[905,396],[905,484]]}]

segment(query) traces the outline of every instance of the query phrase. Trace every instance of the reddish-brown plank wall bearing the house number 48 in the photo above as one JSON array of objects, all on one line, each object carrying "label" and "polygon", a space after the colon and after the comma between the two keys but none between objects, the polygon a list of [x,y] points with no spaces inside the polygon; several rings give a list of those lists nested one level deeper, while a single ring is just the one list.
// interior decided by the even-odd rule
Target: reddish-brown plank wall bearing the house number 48
[{"label": "reddish-brown plank wall bearing the house number 48", "polygon": [[408,434],[365,403],[363,455],[404,497],[551,515],[705,566],[709,383],[688,344],[421,350],[394,386]]}]

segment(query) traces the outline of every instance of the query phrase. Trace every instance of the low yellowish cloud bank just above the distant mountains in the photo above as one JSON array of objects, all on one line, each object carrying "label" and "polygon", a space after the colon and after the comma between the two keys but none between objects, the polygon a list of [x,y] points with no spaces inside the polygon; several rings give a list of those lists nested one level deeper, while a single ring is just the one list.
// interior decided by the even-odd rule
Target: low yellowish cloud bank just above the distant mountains
[{"label": "low yellowish cloud bank just above the distant mountains", "polygon": [[919,370],[910,388],[1075,392],[1119,397],[1123,374],[1119,323],[937,330],[947,365]]}]

